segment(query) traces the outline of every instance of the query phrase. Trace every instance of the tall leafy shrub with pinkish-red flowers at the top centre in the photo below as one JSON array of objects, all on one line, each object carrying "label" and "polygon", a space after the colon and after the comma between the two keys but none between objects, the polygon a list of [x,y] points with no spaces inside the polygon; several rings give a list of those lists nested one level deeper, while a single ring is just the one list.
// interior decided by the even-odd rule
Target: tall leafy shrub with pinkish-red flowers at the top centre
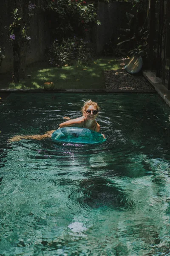
[{"label": "tall leafy shrub with pinkish-red flowers at the top centre", "polygon": [[[47,0],[45,6],[54,38],[85,37],[96,20],[94,4],[83,0]],[[50,19],[50,20],[49,20]]]}]

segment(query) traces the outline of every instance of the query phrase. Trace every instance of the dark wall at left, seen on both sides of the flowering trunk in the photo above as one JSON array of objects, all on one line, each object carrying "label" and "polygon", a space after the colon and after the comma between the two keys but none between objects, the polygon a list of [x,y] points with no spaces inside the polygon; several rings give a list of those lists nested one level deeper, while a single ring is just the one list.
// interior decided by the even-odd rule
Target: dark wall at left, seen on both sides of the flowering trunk
[{"label": "dark wall at left, seen on both sides of the flowering trunk", "polygon": [[[5,59],[0,66],[0,73],[5,73],[13,69],[13,51],[8,40],[8,30],[4,27],[11,23],[12,12],[11,0],[3,0],[0,8],[0,46],[5,47]],[[48,21],[45,13],[38,9],[36,15],[31,18],[30,46],[28,47],[26,64],[31,64],[44,59],[45,49],[50,44]]]}]

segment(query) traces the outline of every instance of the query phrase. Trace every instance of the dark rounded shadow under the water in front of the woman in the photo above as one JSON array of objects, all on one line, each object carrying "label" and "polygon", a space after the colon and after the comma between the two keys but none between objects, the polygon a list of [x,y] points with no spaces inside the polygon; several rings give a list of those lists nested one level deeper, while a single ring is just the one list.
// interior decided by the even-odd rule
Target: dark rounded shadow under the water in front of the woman
[{"label": "dark rounded shadow under the water in front of the woman", "polygon": [[114,183],[108,183],[103,178],[82,180],[79,187],[80,191],[78,193],[74,191],[71,198],[81,205],[86,204],[92,208],[112,207],[118,210],[132,210],[135,207],[134,202],[122,188]]}]

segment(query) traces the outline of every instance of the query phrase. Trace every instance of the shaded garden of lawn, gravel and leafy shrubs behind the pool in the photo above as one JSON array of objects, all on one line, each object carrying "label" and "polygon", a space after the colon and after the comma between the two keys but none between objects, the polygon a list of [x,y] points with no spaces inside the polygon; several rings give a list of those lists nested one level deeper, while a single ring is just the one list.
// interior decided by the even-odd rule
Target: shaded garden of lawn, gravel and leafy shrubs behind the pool
[{"label": "shaded garden of lawn, gravel and leafy shrubs behind the pool", "polygon": [[[104,3],[109,6],[113,1]],[[123,70],[133,54],[142,55],[147,64],[149,32],[143,8],[146,3],[144,0],[135,1],[130,6],[133,14],[125,12],[125,24],[119,28],[119,36],[113,40],[113,35],[110,35],[102,50],[97,52],[93,33],[94,29],[100,28],[101,21],[98,20],[94,1],[14,2],[11,23],[6,26],[13,52],[13,72],[1,73],[0,88],[39,90],[45,84],[49,90],[152,91],[141,73],[130,76]],[[41,61],[33,59],[31,64],[27,64],[31,44],[34,43],[31,36],[32,20],[40,12],[48,22],[48,47]],[[1,46],[0,64],[5,61],[5,52],[6,49]]]}]

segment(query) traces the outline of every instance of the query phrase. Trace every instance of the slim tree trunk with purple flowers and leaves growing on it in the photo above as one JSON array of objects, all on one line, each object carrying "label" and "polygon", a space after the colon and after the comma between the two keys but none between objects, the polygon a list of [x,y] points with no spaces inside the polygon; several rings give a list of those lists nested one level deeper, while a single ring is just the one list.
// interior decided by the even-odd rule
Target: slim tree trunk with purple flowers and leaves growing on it
[{"label": "slim tree trunk with purple flowers and leaves growing on it", "polygon": [[18,83],[20,78],[25,76],[26,52],[31,39],[28,33],[30,30],[30,20],[34,15],[35,8],[36,5],[28,0],[14,0],[14,9],[11,12],[13,22],[9,25],[9,39],[14,55],[14,83]]}]

